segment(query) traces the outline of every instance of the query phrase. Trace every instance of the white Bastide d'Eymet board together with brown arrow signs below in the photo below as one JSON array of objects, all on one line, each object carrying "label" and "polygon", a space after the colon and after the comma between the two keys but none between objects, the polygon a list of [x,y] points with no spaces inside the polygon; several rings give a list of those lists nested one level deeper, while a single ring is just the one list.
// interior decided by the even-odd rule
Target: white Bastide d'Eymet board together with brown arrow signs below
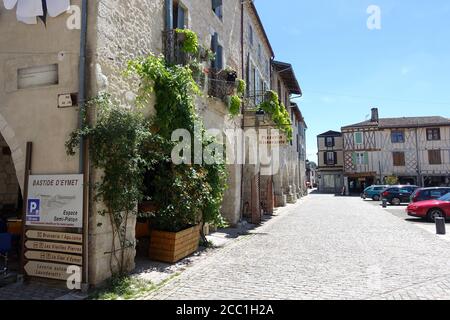
[{"label": "white Bastide d'Eymet board together with brown arrow signs below", "polygon": [[67,280],[83,266],[83,175],[30,175],[24,230],[28,276]]}]

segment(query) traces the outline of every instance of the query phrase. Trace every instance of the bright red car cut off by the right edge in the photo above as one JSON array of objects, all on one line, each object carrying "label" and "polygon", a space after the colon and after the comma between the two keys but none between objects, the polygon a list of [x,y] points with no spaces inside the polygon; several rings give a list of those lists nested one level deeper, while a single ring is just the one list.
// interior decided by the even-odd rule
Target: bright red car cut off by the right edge
[{"label": "bright red car cut off by the right edge", "polygon": [[411,203],[406,212],[409,216],[426,218],[433,222],[438,217],[450,218],[450,193],[437,200]]}]

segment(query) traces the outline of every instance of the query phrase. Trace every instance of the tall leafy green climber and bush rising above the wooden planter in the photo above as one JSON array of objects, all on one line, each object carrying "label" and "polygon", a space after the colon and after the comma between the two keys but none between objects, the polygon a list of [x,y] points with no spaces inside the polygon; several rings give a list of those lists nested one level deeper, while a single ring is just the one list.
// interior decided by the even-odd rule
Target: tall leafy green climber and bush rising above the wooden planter
[{"label": "tall leafy green climber and bush rising above the wooden planter", "polygon": [[[128,73],[141,80],[138,101],[142,105],[150,101],[152,94],[155,95],[156,114],[150,119],[151,127],[167,144],[172,143],[172,132],[180,128],[195,135],[192,145],[194,139],[201,141],[203,148],[215,142],[205,136],[203,123],[196,113],[194,99],[200,92],[189,67],[167,65],[162,57],[150,55],[130,61]],[[172,148],[162,149],[165,149],[165,155],[170,156]],[[193,152],[189,156],[190,162],[194,163]],[[223,224],[220,208],[227,180],[223,161],[214,165],[177,166],[160,162],[149,174],[152,177],[150,201],[158,206],[152,216],[152,224],[158,229],[180,231],[200,221]]]}]

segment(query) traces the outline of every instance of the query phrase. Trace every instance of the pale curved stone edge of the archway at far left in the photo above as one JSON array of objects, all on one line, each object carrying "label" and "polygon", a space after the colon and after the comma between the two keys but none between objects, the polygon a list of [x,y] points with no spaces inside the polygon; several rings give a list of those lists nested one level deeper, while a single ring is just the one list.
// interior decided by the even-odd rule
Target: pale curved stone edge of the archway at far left
[{"label": "pale curved stone edge of the archway at far left", "polygon": [[[0,113],[0,140],[4,140],[11,152],[11,159],[14,165],[16,178],[22,190],[23,196],[23,184],[25,177],[25,153],[20,147],[19,140],[16,137],[16,133],[13,128],[8,124],[5,117]],[[0,150],[1,152],[1,150]]]}]

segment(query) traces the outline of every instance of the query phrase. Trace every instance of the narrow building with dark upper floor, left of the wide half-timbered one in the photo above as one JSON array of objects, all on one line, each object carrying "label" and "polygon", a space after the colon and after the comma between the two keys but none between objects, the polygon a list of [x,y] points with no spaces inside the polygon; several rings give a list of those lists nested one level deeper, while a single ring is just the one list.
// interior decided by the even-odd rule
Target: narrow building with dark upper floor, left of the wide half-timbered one
[{"label": "narrow building with dark upper floor, left of the wide half-timbered one", "polygon": [[341,193],[344,186],[342,134],[327,131],[317,136],[319,192]]}]

